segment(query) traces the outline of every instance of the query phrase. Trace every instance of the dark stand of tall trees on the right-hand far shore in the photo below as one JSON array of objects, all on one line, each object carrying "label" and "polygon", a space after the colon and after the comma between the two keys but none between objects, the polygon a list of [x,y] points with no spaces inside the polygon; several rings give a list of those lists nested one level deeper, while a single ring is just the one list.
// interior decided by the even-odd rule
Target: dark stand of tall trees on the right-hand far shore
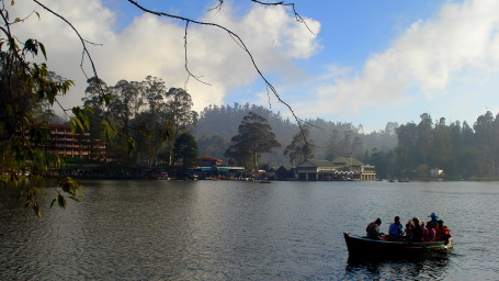
[{"label": "dark stand of tall trees on the right-hand far shore", "polygon": [[497,177],[499,164],[499,116],[488,111],[473,128],[460,121],[433,123],[427,113],[421,121],[397,128],[395,167],[399,175],[428,177],[432,168],[447,177]]}]

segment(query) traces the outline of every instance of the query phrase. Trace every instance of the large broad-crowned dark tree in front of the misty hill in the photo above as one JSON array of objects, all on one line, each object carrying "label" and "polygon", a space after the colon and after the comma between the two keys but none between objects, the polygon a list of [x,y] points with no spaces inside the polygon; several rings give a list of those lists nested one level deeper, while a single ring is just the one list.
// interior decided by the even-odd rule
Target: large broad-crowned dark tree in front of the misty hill
[{"label": "large broad-crowned dark tree in front of the misty hill", "polygon": [[281,147],[281,144],[275,139],[272,127],[264,117],[250,112],[242,119],[238,134],[230,139],[225,156],[239,165],[258,169],[261,155],[271,153],[274,147]]}]

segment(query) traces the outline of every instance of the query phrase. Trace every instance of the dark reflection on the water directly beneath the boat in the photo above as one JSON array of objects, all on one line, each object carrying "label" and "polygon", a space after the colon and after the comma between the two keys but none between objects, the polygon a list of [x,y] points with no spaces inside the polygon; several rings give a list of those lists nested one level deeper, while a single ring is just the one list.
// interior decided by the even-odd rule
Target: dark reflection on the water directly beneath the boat
[{"label": "dark reflection on the water directly beneath the boat", "polygon": [[349,257],[345,277],[358,280],[442,280],[447,273],[449,265],[450,257],[446,255],[413,258]]}]

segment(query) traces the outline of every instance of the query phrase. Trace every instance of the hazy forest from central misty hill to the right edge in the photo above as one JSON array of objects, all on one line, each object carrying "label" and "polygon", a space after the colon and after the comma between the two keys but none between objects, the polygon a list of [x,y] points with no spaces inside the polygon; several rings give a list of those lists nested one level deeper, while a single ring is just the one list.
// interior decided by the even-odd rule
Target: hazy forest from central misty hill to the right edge
[{"label": "hazy forest from central misty hill to the right edge", "polygon": [[[388,122],[385,130],[371,133],[364,133],[362,125],[316,119],[306,120],[310,126],[300,133],[288,119],[263,106],[211,105],[201,112],[195,126],[200,155],[211,155],[227,164],[224,151],[249,112],[263,116],[282,144],[262,156],[261,164],[270,167],[296,165],[306,153],[315,159],[354,157],[376,166],[381,178],[428,178],[431,169],[441,169],[446,177],[456,179],[498,176],[499,116],[491,112],[478,116],[473,126],[460,121],[447,124],[443,117],[433,120],[423,113],[419,123]],[[307,148],[299,139],[303,135],[309,139]]]}]

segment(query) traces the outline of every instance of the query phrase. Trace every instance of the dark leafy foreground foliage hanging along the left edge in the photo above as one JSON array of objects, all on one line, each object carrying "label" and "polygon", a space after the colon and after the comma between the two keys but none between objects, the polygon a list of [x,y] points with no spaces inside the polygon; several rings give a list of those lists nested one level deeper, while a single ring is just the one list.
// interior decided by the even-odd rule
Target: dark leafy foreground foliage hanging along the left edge
[{"label": "dark leafy foreground foliage hanging along the left edge", "polygon": [[[14,1],[10,3],[14,4]],[[32,209],[37,216],[42,215],[38,198],[43,195],[42,187],[50,184],[57,192],[53,204],[66,207],[67,199],[78,201],[81,186],[70,177],[54,180],[49,169],[58,168],[64,162],[59,156],[49,157],[45,149],[50,138],[47,126],[50,112],[44,108],[52,106],[58,95],[66,94],[73,85],[71,80],[50,72],[45,63],[34,63],[30,58],[47,53],[42,42],[34,38],[21,41],[12,34],[11,26],[21,24],[21,19],[10,19],[7,10],[9,3],[1,1],[0,8],[0,164],[9,175],[9,182],[20,187],[20,199],[25,209]],[[79,108],[73,108],[76,115],[71,119],[73,132],[88,128],[88,117]],[[27,173],[26,173],[27,172]],[[27,175],[27,181],[21,184],[20,173]],[[7,186],[7,182],[2,182]]]}]

